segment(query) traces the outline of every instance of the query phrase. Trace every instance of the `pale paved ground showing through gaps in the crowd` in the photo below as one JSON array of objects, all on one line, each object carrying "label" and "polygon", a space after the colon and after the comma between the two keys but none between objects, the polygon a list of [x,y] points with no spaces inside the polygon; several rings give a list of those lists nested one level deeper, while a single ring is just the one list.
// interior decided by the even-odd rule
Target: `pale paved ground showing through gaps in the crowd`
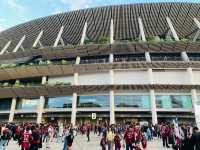
[{"label": "pale paved ground showing through gaps in the crowd", "polygon": [[[101,150],[99,145],[100,137],[91,134],[91,141],[87,142],[86,136],[78,135],[73,144],[73,150]],[[50,143],[50,148],[48,150],[62,150],[62,144]],[[43,145],[42,150],[47,150],[46,146]],[[17,144],[11,142],[6,150],[20,150]],[[148,150],[172,150],[170,148],[163,148],[161,140],[155,140],[148,142]]]}]

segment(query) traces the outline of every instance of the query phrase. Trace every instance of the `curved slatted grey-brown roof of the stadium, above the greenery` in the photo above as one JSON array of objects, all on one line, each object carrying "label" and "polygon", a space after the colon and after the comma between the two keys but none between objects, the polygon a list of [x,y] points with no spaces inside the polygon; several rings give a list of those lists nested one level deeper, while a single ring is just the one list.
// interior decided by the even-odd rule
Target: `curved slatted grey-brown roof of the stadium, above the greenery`
[{"label": "curved slatted grey-brown roof of the stadium, above the greenery", "polygon": [[116,41],[138,38],[142,30],[141,22],[146,37],[165,37],[169,29],[172,31],[172,25],[177,36],[184,38],[196,31],[197,26],[194,26],[193,19],[200,20],[199,12],[200,3],[185,2],[134,3],[68,11],[40,17],[4,30],[0,33],[0,47],[12,41],[9,48],[13,51],[26,35],[23,47],[30,49],[41,30],[44,31],[41,43],[44,46],[53,46],[61,26],[64,26],[64,43],[79,44],[86,22],[87,38],[97,41],[102,36],[110,36],[111,20],[114,26],[113,39]]}]

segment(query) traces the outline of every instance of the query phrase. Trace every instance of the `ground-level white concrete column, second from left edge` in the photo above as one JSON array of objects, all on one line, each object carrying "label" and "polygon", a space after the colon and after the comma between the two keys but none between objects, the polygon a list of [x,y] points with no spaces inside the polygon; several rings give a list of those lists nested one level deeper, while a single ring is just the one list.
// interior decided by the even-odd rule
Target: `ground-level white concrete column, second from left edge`
[{"label": "ground-level white concrete column, second from left edge", "polygon": [[38,109],[37,109],[37,123],[42,123],[42,113],[44,111],[44,104],[45,104],[45,97],[40,96],[40,100],[38,103]]}]

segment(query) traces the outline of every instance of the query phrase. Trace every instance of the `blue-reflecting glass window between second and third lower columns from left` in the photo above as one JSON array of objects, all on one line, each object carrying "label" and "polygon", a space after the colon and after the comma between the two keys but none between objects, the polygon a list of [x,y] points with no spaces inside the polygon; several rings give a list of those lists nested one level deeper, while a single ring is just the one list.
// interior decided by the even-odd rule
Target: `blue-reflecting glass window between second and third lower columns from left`
[{"label": "blue-reflecting glass window between second and third lower columns from left", "polygon": [[72,96],[48,98],[45,108],[72,108]]}]

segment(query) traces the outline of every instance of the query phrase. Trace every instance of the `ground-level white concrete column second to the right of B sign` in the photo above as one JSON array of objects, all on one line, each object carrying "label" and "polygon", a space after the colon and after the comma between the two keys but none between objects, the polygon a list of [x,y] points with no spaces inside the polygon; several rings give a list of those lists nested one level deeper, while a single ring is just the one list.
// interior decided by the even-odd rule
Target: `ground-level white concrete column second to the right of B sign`
[{"label": "ground-level white concrete column second to the right of B sign", "polygon": [[155,125],[158,123],[158,119],[157,119],[157,111],[156,111],[155,91],[153,89],[150,90],[150,99],[151,99],[152,124]]}]

